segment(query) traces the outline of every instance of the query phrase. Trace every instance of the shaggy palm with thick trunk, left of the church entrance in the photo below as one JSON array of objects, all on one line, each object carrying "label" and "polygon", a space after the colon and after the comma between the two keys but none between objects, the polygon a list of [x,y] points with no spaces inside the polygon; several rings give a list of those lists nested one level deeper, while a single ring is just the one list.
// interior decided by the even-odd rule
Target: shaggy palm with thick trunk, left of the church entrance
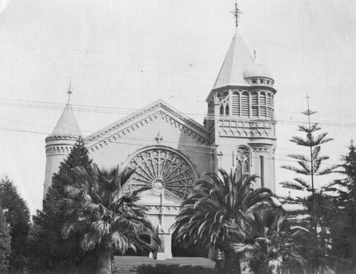
[{"label": "shaggy palm with thick trunk, left of the church entrance", "polygon": [[124,254],[128,248],[147,248],[140,235],[155,237],[155,230],[147,220],[147,209],[138,205],[138,191],[128,192],[122,186],[127,183],[135,171],[120,167],[110,171],[93,166],[88,173],[84,168],[76,168],[78,181],[66,187],[70,205],[66,216],[68,221],[63,226],[62,236],[82,235],[83,250],[98,250],[97,273],[111,273],[111,252]]}]

